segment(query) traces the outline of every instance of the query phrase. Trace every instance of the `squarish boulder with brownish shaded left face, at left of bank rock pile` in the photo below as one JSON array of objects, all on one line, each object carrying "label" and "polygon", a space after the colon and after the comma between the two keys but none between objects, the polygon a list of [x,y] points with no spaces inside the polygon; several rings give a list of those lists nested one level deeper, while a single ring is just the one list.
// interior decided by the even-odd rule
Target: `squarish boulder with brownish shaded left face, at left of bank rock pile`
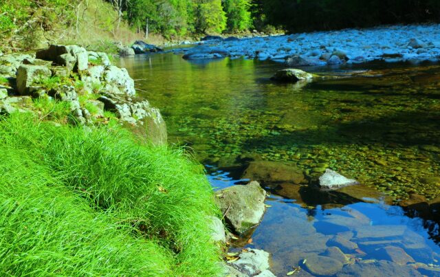
[{"label": "squarish boulder with brownish shaded left face, at left of bank rock pile", "polygon": [[52,71],[41,65],[20,65],[17,71],[17,90],[21,95],[30,93],[34,82],[43,78],[50,78]]}]

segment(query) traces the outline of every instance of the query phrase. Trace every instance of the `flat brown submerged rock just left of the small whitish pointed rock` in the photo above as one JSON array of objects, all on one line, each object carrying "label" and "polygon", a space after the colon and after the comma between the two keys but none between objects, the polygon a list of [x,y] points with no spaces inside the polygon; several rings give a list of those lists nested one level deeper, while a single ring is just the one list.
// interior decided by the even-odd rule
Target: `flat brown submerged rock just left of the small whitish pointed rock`
[{"label": "flat brown submerged rock just left of the small whitish pointed rock", "polygon": [[303,171],[293,163],[254,161],[250,162],[243,178],[260,181],[261,184],[301,184],[305,181]]}]

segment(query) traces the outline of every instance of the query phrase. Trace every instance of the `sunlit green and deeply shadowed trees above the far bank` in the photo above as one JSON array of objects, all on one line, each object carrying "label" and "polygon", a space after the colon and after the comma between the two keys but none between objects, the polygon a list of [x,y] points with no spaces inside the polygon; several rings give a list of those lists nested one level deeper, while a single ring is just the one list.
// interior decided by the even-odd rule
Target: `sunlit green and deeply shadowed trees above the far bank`
[{"label": "sunlit green and deeply shadowed trees above the far bank", "polygon": [[166,36],[289,32],[439,21],[437,0],[111,0],[137,30]]}]

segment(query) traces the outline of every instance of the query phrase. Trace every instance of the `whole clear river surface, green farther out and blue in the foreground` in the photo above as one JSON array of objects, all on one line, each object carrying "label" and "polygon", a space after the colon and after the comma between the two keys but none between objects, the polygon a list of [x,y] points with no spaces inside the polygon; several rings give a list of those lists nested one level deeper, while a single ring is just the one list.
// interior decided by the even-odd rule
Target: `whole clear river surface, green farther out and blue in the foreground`
[{"label": "whole clear river surface, green farther out and blue in the foreground", "polygon": [[[428,199],[440,196],[437,65],[311,68],[339,78],[304,86],[270,82],[274,71],[283,68],[270,61],[190,63],[178,55],[158,54],[124,58],[120,65],[135,79],[137,92],[161,109],[169,141],[190,146],[206,164],[214,187],[239,181],[240,157],[258,154],[294,162],[308,179],[325,168],[337,170],[394,201],[412,192]],[[357,76],[344,78],[353,72]],[[410,219],[401,208],[384,203],[338,203],[338,197],[332,203],[311,203],[305,200],[310,193],[272,195],[267,200],[272,207],[252,234],[254,247],[274,255],[276,274],[284,276],[298,265],[301,275],[313,272],[313,263],[325,264],[321,256],[333,236],[357,245],[351,250],[339,245],[348,257],[339,274],[415,274],[408,265],[378,262],[398,260],[386,252],[410,255],[409,263],[422,274],[439,273],[434,271],[440,253],[434,223]],[[387,225],[392,226],[381,227]],[[382,232],[380,238],[377,232]],[[237,245],[245,245],[249,237]],[[380,250],[386,245],[397,248]],[[417,262],[431,267],[423,269]]]}]

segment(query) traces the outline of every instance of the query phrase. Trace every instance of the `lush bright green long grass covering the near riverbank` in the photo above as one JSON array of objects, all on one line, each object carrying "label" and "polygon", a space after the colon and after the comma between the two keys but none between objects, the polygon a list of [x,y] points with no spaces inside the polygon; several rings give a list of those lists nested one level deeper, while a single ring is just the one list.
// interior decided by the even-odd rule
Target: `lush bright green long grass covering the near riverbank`
[{"label": "lush bright green long grass covering the near riverbank", "polygon": [[219,272],[207,224],[219,211],[181,150],[140,144],[117,124],[84,131],[29,114],[3,119],[0,143],[5,275]]}]

